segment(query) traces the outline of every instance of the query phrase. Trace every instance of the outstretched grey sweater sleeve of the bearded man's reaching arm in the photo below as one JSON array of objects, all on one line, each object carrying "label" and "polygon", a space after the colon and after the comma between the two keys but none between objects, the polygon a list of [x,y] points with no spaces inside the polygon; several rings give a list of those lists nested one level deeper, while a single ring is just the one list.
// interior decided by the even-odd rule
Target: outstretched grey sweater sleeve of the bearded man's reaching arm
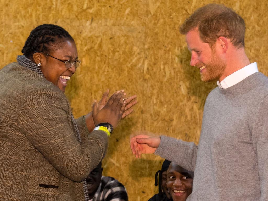
[{"label": "outstretched grey sweater sleeve of the bearded man's reaching arm", "polygon": [[194,172],[197,149],[198,146],[193,142],[185,142],[171,137],[161,136],[161,143],[155,154]]}]

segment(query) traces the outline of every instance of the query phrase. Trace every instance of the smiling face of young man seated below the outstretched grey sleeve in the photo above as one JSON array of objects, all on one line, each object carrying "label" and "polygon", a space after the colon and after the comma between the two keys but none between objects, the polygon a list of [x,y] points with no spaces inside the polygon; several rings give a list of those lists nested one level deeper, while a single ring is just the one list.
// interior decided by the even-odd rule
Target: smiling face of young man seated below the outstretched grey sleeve
[{"label": "smiling face of young man seated below the outstretched grey sleeve", "polygon": [[173,201],[185,201],[192,193],[193,172],[171,162],[168,168],[167,187]]}]

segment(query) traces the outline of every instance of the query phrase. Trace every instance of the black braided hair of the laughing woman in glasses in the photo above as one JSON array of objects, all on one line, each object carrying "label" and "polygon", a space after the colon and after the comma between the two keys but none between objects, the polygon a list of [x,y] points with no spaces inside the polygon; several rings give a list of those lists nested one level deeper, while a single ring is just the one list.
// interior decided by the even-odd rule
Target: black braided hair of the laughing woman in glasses
[{"label": "black braided hair of the laughing woman in glasses", "polygon": [[62,27],[54,24],[39,25],[31,31],[21,52],[29,59],[35,51],[49,53],[51,43],[62,38],[73,40],[72,36]]}]

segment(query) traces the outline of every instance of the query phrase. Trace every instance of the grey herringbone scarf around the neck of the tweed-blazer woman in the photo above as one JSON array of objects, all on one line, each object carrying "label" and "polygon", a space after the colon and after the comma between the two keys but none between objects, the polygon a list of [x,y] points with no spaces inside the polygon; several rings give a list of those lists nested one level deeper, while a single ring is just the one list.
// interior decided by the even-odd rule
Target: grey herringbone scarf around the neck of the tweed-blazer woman
[{"label": "grey herringbone scarf around the neck of the tweed-blazer woman", "polygon": [[[32,70],[32,71],[44,76],[44,74],[40,70],[39,66],[36,65],[34,62],[32,62],[30,59],[28,59],[25,55],[18,55],[17,56],[17,62],[20,65],[24,66],[25,68],[28,68],[28,69],[30,69],[30,70]],[[81,144],[81,138],[80,138],[79,129],[78,129],[78,126],[76,124],[75,118],[73,117],[73,113],[72,113],[72,121],[73,121],[73,126],[75,127],[75,130],[76,130],[76,133],[77,133],[78,142]],[[84,179],[83,187],[84,187],[85,201],[89,201],[86,179]]]}]

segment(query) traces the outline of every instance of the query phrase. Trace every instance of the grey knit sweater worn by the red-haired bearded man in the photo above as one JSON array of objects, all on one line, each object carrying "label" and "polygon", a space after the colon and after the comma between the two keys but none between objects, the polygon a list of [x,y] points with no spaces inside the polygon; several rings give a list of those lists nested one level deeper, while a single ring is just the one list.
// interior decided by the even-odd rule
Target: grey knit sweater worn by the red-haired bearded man
[{"label": "grey knit sweater worn by the red-haired bearded man", "polygon": [[268,78],[254,73],[207,97],[199,146],[161,136],[155,151],[195,171],[191,201],[268,200]]}]

